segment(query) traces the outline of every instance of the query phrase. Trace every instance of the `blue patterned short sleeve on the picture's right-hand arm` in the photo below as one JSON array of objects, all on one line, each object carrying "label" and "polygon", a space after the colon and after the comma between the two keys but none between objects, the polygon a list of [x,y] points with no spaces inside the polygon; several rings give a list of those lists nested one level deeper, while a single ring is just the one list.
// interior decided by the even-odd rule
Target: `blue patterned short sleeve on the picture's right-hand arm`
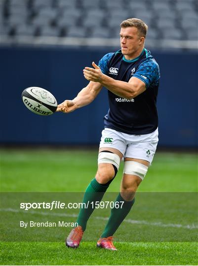
[{"label": "blue patterned short sleeve on the picture's right-hand arm", "polygon": [[133,77],[141,79],[146,84],[146,88],[148,88],[152,83],[157,82],[160,77],[157,62],[150,60],[142,63]]}]

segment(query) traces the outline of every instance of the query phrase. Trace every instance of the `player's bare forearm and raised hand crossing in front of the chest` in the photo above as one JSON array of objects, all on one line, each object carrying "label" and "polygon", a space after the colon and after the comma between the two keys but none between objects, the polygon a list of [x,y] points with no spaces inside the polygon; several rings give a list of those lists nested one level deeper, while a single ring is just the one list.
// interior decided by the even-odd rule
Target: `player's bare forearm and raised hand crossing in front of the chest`
[{"label": "player's bare forearm and raised hand crossing in front of the chest", "polygon": [[91,67],[83,69],[84,77],[87,80],[101,83],[109,91],[119,97],[131,100],[146,90],[145,82],[136,77],[131,77],[129,82],[115,80],[102,73],[99,66],[94,62]]}]

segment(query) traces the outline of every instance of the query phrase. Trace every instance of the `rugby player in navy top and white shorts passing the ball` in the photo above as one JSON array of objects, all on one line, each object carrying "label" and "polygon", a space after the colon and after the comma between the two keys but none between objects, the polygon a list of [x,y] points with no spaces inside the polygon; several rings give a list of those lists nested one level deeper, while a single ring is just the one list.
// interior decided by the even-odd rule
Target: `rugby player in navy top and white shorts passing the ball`
[{"label": "rugby player in navy top and white shorts passing the ball", "polygon": [[[98,66],[83,69],[89,84],[74,100],[65,100],[57,111],[70,113],[92,102],[102,87],[108,90],[109,111],[104,117],[104,130],[99,147],[98,170],[88,185],[83,202],[100,201],[115,178],[120,160],[124,159],[123,177],[117,202],[97,247],[117,250],[113,235],[129,213],[135,192],[151,165],[158,144],[158,113],[156,107],[159,67],[150,51],[144,48],[147,25],[131,18],[120,24],[121,49],[106,54]],[[78,227],[66,239],[68,247],[79,247],[92,206],[81,208]]]}]

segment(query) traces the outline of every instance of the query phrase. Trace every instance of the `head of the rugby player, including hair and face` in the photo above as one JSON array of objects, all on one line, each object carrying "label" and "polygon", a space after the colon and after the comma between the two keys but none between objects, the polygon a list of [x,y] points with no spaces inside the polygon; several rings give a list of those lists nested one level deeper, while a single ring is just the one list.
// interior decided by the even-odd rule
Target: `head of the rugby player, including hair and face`
[{"label": "head of the rugby player, including hair and face", "polygon": [[140,19],[130,18],[122,21],[120,27],[122,54],[133,57],[144,47],[148,26]]}]

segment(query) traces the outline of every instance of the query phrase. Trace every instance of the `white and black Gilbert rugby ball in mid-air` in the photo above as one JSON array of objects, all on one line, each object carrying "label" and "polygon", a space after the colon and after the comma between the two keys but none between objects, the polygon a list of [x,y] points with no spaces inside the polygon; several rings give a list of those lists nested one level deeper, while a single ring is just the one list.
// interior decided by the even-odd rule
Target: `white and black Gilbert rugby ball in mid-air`
[{"label": "white and black Gilbert rugby ball in mid-air", "polygon": [[33,113],[51,115],[57,109],[55,97],[40,87],[29,87],[22,92],[21,96],[25,106]]}]

